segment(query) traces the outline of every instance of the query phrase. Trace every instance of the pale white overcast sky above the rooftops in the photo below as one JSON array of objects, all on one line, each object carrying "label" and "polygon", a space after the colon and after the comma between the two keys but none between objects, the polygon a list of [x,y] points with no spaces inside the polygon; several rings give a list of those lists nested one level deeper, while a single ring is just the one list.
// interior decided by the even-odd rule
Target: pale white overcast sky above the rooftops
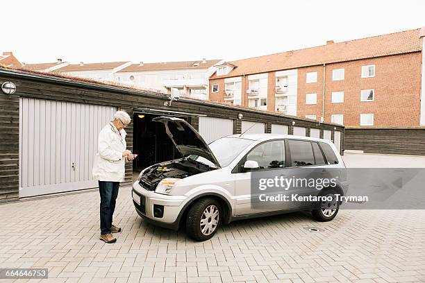
[{"label": "pale white overcast sky above the rooftops", "polygon": [[236,60],[425,26],[425,1],[3,1],[0,51],[26,63]]}]

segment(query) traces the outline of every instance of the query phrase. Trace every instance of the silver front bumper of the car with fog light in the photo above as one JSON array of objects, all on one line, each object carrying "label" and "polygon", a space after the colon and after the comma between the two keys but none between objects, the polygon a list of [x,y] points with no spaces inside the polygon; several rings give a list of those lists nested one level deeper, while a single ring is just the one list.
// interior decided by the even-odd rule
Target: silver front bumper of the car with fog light
[{"label": "silver front bumper of the car with fog light", "polygon": [[[161,227],[177,230],[181,212],[186,203],[186,196],[169,196],[148,191],[140,186],[139,182],[133,184],[131,192],[136,212],[147,222]],[[153,206],[163,206],[163,216],[153,214]]]}]

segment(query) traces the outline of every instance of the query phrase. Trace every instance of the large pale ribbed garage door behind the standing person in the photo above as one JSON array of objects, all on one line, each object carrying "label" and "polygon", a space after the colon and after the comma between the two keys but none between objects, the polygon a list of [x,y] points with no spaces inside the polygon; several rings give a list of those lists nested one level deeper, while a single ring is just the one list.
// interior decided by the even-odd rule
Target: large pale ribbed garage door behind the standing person
[{"label": "large pale ribbed garage door behind the standing person", "polygon": [[97,187],[97,135],[116,108],[19,100],[19,197]]}]

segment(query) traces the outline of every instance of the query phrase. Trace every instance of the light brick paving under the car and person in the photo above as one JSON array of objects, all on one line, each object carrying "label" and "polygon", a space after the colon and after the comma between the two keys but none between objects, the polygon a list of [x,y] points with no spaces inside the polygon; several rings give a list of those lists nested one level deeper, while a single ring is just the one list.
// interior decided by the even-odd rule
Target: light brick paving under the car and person
[{"label": "light brick paving under the car and person", "polygon": [[130,187],[119,192],[114,244],[99,240],[96,190],[2,204],[0,216],[0,268],[49,268],[47,280],[17,282],[425,282],[424,210],[258,218],[202,243],[145,223]]}]

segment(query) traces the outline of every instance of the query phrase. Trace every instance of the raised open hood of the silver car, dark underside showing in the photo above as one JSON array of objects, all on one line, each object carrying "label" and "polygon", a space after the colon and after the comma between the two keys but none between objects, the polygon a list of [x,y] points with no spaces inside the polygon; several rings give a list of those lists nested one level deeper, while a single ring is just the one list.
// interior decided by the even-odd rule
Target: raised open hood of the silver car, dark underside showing
[{"label": "raised open hood of the silver car, dark underside showing", "polygon": [[176,117],[163,116],[153,118],[152,121],[164,124],[167,135],[183,157],[198,155],[213,162],[217,168],[221,168],[213,152],[199,135],[199,132],[190,126],[188,122]]}]

